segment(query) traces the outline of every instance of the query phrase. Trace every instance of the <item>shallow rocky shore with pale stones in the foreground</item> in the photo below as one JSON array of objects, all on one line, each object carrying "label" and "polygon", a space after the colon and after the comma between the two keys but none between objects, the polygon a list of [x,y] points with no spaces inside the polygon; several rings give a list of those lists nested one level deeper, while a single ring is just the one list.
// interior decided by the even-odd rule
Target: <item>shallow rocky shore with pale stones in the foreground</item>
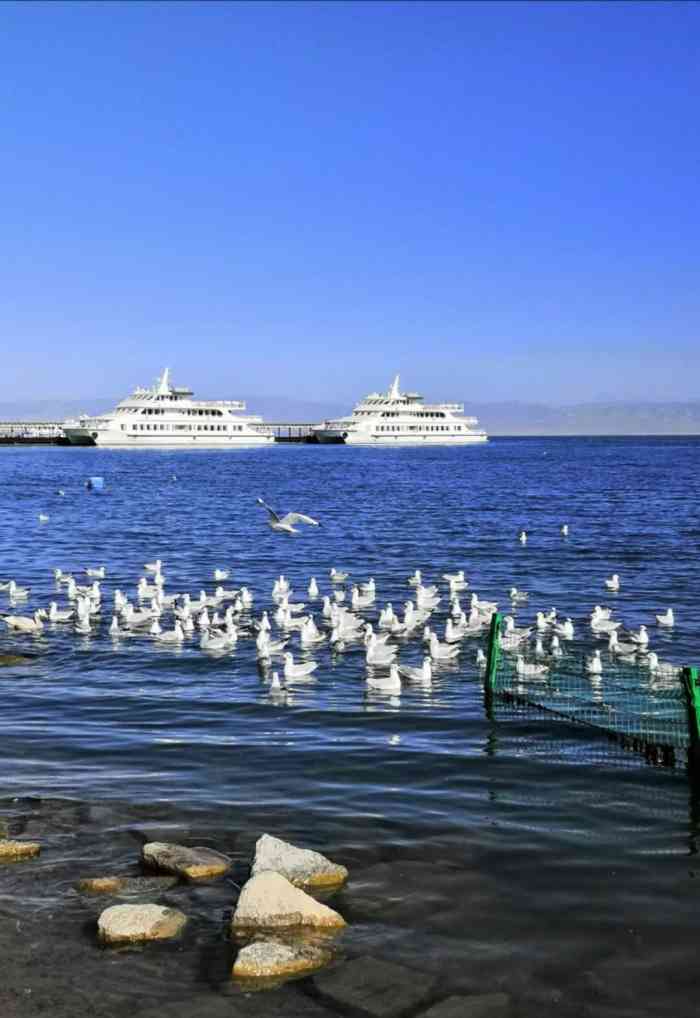
[{"label": "shallow rocky shore with pale stones in the foreground", "polygon": [[622,926],[562,937],[475,854],[327,855],[172,805],[39,799],[0,802],[0,843],[2,1018],[692,1013],[687,931],[653,951]]}]

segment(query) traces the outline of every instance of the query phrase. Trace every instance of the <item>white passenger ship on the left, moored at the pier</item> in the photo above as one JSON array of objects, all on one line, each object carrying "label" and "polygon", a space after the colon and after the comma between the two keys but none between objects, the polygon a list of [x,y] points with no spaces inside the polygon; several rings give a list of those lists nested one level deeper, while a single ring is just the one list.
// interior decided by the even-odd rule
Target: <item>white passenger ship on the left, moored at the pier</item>
[{"label": "white passenger ship on the left, moored at the pier", "polygon": [[151,389],[134,389],[114,410],[66,420],[73,445],[170,448],[231,448],[272,445],[275,435],[261,417],[242,414],[240,400],[193,399],[191,389],[170,383],[169,370]]}]

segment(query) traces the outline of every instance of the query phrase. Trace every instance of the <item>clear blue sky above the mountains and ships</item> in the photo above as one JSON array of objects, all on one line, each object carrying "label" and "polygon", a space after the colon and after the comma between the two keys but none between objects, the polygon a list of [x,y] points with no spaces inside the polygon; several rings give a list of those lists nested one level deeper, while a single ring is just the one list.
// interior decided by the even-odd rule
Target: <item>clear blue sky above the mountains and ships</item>
[{"label": "clear blue sky above the mountains and ships", "polygon": [[696,3],[3,3],[0,399],[700,397]]}]

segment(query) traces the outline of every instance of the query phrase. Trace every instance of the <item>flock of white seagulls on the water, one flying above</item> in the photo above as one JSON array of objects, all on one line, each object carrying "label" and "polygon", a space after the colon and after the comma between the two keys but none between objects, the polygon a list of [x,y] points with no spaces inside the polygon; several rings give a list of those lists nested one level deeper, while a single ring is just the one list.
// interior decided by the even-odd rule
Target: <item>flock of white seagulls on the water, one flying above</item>
[{"label": "flock of white seagulls on the water, one flying above", "polygon": [[[268,510],[273,530],[294,533],[294,524],[299,522],[319,525],[301,513],[279,516],[261,499],[257,501]],[[567,524],[562,525],[561,532],[568,535]],[[521,531],[519,540],[526,543],[526,531]],[[16,633],[37,635],[48,624],[51,627],[71,626],[77,634],[90,635],[103,618],[101,581],[106,572],[104,566],[86,568],[84,580],[80,577],[82,581],[78,582],[74,575],[57,568],[54,580],[57,595],[65,592],[68,602],[65,607],[59,607],[54,600],[48,608],[39,608],[32,615],[0,612],[0,617]],[[197,641],[202,652],[214,656],[230,654],[239,640],[249,638],[254,640],[264,672],[269,672],[273,662],[280,663],[278,667],[284,682],[277,670],[273,671],[271,682],[271,692],[277,696],[285,695],[288,684],[312,676],[318,668],[313,654],[323,646],[333,654],[357,649],[364,656],[367,688],[396,696],[406,682],[429,686],[435,670],[454,664],[464,654],[468,639],[485,635],[499,608],[495,602],[483,601],[476,592],[467,596],[469,581],[464,570],[444,573],[440,584],[435,584],[425,583],[420,569],[406,578],[410,597],[401,610],[395,610],[391,603],[380,608],[372,577],[349,582],[349,574],[334,567],[329,574],[330,592],[322,595],[315,577],[311,577],[303,601],[295,600],[290,581],[284,575],[279,576],[272,587],[273,607],[255,617],[252,592],[246,586],[224,586],[230,578],[230,570],[217,568],[213,573],[214,592],[200,589],[195,596],[166,593],[163,562],[160,559],[148,562],[137,580],[133,600],[120,589],[114,590],[109,633],[115,644],[138,636],[172,646]],[[604,579],[603,586],[619,591],[620,576],[614,573]],[[14,579],[0,582],[0,591],[6,595],[12,607],[25,603],[31,593],[28,587],[20,586]],[[519,676],[543,678],[564,656],[563,644],[574,640],[574,622],[571,618],[561,619],[552,608],[548,612],[536,612],[533,625],[518,627],[514,614],[528,605],[529,595],[512,586],[508,600],[513,614],[503,618],[501,648],[514,656]],[[434,613],[443,603],[448,607],[441,636],[433,627]],[[373,613],[374,624],[368,620],[368,613]],[[596,605],[588,619],[592,636],[606,639],[611,661],[633,662],[658,676],[675,676],[680,672],[678,666],[660,661],[650,651],[645,625],[636,631],[626,630],[612,615],[612,608]],[[164,628],[168,617],[172,627]],[[670,608],[655,617],[656,625],[665,629],[673,627],[675,621]],[[304,660],[294,660],[291,648],[294,638],[298,639]],[[424,648],[419,667],[402,664],[399,660],[401,647],[410,641],[421,641]],[[485,668],[482,646],[476,651],[475,663]],[[599,649],[585,657],[584,667],[591,675],[603,671],[605,666]]]}]

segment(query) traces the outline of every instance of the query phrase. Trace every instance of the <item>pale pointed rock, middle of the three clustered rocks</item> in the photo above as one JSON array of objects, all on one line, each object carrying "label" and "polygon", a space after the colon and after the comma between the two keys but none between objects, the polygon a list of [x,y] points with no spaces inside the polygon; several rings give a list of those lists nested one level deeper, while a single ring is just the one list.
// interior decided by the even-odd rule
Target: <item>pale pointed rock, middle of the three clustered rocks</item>
[{"label": "pale pointed rock, middle of the three clustered rocks", "polygon": [[231,920],[232,932],[284,926],[338,929],[344,925],[342,915],[295,888],[286,876],[274,872],[250,878],[243,886]]}]

